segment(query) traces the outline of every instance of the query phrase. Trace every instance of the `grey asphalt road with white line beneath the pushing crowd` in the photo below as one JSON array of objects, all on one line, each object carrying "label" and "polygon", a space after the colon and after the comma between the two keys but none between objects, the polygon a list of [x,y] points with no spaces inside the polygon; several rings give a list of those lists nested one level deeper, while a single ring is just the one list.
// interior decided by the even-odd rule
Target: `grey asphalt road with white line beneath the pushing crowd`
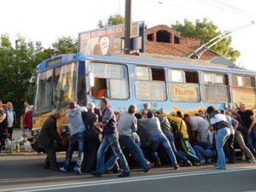
[{"label": "grey asphalt road with white line beneath the pushing crowd", "polygon": [[[58,154],[60,163],[65,154]],[[248,192],[256,191],[256,164],[239,161],[227,170],[212,165],[153,168],[148,173],[131,169],[131,177],[118,174],[92,177],[75,172],[44,170],[44,154],[0,154],[0,192],[2,191],[86,191],[86,192]]]}]

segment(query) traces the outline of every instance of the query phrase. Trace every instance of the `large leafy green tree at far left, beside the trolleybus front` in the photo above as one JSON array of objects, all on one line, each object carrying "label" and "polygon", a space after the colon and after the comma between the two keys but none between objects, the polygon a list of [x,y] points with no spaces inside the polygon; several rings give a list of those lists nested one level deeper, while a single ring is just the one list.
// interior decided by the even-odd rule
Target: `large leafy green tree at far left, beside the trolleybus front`
[{"label": "large leafy green tree at far left, beside the trolleybus front", "polygon": [[37,64],[34,44],[26,42],[26,38],[18,35],[15,48],[7,35],[0,40],[0,76],[3,102],[12,102],[18,114],[22,113],[23,102],[30,100],[27,94],[29,80],[35,72]]}]

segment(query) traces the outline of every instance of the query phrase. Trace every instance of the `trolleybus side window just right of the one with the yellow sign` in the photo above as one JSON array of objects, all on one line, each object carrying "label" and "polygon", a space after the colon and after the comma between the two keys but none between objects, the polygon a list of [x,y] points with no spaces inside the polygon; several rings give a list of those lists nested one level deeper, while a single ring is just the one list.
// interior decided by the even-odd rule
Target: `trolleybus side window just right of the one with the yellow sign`
[{"label": "trolleybus side window just right of the one with the yellow sign", "polygon": [[202,92],[205,102],[230,102],[229,89],[226,74],[202,73]]}]

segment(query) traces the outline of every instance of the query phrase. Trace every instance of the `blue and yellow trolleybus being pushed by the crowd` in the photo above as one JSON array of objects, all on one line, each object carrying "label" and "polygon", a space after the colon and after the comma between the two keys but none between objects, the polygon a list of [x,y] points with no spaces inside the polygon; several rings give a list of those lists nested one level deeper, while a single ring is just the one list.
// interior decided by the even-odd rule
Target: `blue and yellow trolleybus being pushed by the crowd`
[{"label": "blue and yellow trolleybus being pushed by the crowd", "polygon": [[[68,103],[79,106],[109,99],[115,111],[143,104],[167,113],[197,113],[209,105],[235,107],[244,102],[256,109],[256,72],[187,58],[164,55],[56,55],[37,67],[32,136],[54,108],[61,109],[58,131],[68,137]],[[68,139],[68,138],[67,138]]]}]

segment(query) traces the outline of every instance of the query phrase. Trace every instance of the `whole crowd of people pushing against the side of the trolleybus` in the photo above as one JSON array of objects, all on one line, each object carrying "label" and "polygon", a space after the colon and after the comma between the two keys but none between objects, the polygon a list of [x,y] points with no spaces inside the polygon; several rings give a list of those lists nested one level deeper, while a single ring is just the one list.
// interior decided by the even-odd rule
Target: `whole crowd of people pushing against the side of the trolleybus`
[{"label": "whole crowd of people pushing against the side of the trolleybus", "polygon": [[237,110],[224,106],[225,110],[220,111],[209,106],[206,114],[199,111],[196,116],[179,111],[168,114],[164,108],[153,112],[148,104],[144,107],[142,113],[137,113],[136,105],[131,105],[127,112],[114,113],[107,98],[101,99],[100,109],[93,102],[87,104],[86,110],[70,102],[67,119],[71,136],[61,167],[57,165],[54,140],[62,145],[67,141],[57,133],[56,119],[61,112],[55,109],[38,136],[38,143],[47,154],[44,168],[68,172],[76,145],[78,157],[73,170],[95,177],[119,170],[119,177],[129,177],[133,165],[148,172],[161,162],[177,170],[216,159],[215,169],[226,169],[227,161],[236,162],[234,141],[241,148],[242,159],[255,162],[255,116],[243,103]]}]

